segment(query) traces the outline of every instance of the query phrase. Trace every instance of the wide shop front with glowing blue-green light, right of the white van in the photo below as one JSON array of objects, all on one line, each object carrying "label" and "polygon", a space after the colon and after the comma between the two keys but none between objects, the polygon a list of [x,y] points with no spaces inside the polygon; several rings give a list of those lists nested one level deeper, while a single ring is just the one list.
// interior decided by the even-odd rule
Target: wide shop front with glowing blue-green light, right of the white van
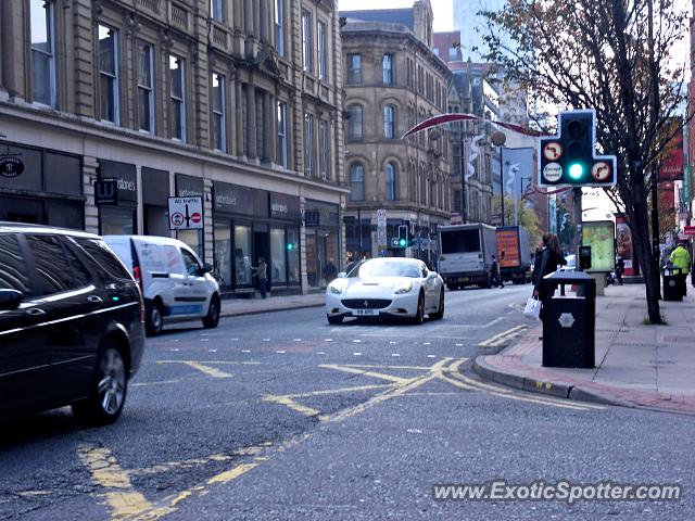
[{"label": "wide shop front with glowing blue-green light, right of the white van", "polygon": [[273,291],[298,292],[300,269],[299,198],[215,182],[214,268],[226,295],[257,288],[253,267],[263,257]]}]

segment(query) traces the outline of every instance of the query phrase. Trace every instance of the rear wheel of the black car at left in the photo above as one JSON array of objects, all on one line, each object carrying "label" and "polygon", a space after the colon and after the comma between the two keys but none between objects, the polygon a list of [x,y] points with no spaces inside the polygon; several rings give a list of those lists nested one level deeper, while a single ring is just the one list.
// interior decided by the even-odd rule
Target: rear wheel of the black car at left
[{"label": "rear wheel of the black car at left", "polygon": [[118,344],[108,340],[97,357],[89,398],[74,404],[73,414],[78,420],[91,424],[113,423],[121,416],[127,390],[126,365]]}]

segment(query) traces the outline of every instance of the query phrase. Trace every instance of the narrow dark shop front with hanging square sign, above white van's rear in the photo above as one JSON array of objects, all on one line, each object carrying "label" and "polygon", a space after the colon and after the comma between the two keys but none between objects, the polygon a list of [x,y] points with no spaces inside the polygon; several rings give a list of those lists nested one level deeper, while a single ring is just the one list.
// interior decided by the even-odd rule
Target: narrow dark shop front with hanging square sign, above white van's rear
[{"label": "narrow dark shop front with hanging square sign, above white van's rear", "polygon": [[135,165],[99,160],[100,181],[116,181],[116,204],[99,206],[99,234],[132,236],[138,233],[138,178]]}]

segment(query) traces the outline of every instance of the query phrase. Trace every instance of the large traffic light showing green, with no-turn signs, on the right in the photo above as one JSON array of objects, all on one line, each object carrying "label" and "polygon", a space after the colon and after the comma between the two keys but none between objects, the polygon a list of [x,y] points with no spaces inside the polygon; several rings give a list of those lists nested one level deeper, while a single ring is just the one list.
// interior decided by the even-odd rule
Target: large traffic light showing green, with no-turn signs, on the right
[{"label": "large traffic light showing green, with no-turn signs, on the right", "polygon": [[616,183],[616,156],[596,155],[593,109],[560,112],[557,136],[539,139],[539,185],[610,187]]}]

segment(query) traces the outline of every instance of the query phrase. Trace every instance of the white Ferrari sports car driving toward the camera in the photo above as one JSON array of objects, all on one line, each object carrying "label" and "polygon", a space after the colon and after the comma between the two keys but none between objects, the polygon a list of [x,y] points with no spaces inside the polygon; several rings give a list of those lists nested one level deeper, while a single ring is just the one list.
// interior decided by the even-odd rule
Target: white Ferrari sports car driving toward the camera
[{"label": "white Ferrari sports car driving toward the camera", "polygon": [[422,323],[444,316],[444,281],[416,258],[381,257],[359,263],[326,288],[329,323],[345,317],[407,317]]}]

